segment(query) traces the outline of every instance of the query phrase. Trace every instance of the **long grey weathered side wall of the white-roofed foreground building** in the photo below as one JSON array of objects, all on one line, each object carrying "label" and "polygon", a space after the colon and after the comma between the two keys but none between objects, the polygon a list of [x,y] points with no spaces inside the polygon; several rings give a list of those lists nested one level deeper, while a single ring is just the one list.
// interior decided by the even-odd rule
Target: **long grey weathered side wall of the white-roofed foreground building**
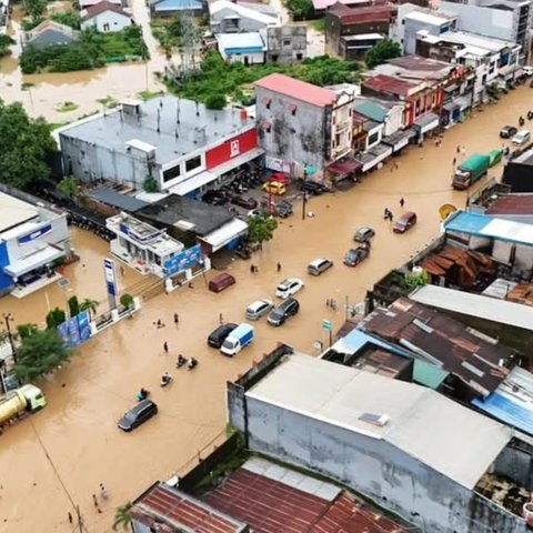
[{"label": "long grey weathered side wall of the white-roofed foreground building", "polygon": [[523,521],[487,505],[471,491],[384,441],[250,396],[247,406],[252,450],[345,483],[420,524],[424,531],[525,532]]}]

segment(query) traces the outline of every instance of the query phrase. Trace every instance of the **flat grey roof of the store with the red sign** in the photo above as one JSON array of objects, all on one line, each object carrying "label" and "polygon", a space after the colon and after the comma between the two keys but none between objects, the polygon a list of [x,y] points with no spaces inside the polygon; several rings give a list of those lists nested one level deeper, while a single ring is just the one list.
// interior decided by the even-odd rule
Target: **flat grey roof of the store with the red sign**
[{"label": "flat grey roof of the store with the red sign", "polygon": [[[139,113],[129,109],[139,109]],[[214,111],[202,103],[171,95],[147,102],[128,102],[113,111],[61,128],[60,138],[79,139],[125,154],[130,147],[152,147],[163,164],[223,138],[253,128],[239,110]],[[128,145],[128,143],[130,143]]]}]

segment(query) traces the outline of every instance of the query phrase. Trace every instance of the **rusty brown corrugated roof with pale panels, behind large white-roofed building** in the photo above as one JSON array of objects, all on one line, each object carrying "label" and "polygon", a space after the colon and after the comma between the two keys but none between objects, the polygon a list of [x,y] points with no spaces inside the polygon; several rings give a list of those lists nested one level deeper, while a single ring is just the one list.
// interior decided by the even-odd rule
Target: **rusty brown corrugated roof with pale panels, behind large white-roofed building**
[{"label": "rusty brown corrugated roof with pale panels, behind large white-roofed building", "polygon": [[389,341],[423,352],[480,395],[494,391],[509,370],[514,352],[489,338],[474,334],[461,322],[406,298],[389,309],[380,308],[363,321],[363,328]]}]

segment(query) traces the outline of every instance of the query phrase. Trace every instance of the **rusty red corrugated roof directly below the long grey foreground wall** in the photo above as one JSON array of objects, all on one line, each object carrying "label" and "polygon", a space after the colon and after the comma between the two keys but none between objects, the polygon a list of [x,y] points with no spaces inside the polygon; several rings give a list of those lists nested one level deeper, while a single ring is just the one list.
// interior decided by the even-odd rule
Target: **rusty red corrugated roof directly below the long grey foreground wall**
[{"label": "rusty red corrugated roof directly below the long grey foreground wall", "polygon": [[345,491],[333,501],[240,469],[204,496],[254,533],[404,533]]}]

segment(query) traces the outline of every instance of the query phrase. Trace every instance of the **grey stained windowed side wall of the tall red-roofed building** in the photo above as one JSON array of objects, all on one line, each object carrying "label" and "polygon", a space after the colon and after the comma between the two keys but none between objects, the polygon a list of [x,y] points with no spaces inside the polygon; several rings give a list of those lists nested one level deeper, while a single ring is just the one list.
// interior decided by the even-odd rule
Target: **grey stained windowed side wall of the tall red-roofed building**
[{"label": "grey stained windowed side wall of the tall red-roofed building", "polygon": [[[331,130],[326,109],[260,87],[255,94],[259,143],[266,155],[322,170]],[[270,109],[263,101],[265,98],[271,100]],[[298,105],[294,115],[289,111],[290,104]],[[265,130],[265,122],[271,124],[270,131]]]}]

